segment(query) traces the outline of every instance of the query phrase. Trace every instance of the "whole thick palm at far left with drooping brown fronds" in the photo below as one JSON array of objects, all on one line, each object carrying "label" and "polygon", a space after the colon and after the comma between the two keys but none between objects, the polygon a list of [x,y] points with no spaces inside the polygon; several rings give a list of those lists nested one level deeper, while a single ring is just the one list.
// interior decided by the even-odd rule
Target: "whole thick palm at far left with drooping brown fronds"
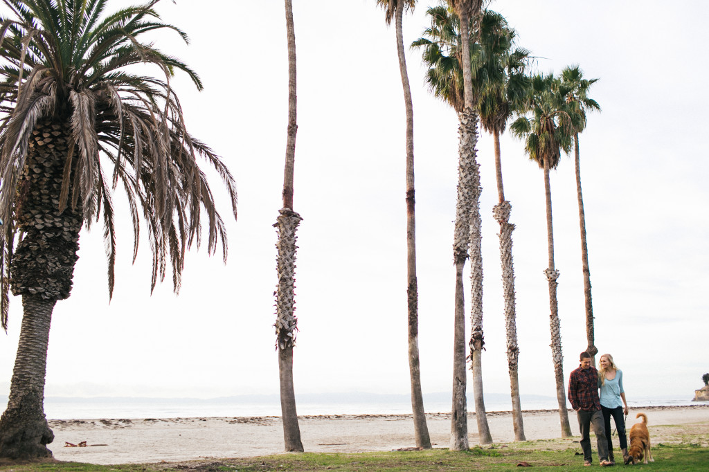
[{"label": "whole thick palm at far left with drooping brown fronds", "polygon": [[[172,269],[177,292],[186,249],[200,243],[201,210],[208,252],[223,220],[196,157],[221,175],[236,217],[233,177],[219,157],[191,137],[169,78],[176,58],[140,42],[151,30],[182,30],[160,22],[159,0],[107,14],[104,0],[4,0],[0,18],[0,238],[2,323],[8,291],[22,296],[23,320],[7,409],[0,418],[0,456],[51,456],[54,434],[44,414],[52,311],[69,297],[79,231],[103,220],[108,289],[113,293],[116,226],[112,193],[119,182],[133,217],[134,248],[143,214],[152,250],[152,288]],[[154,64],[164,79],[125,72]],[[106,172],[113,174],[107,176]],[[169,268],[168,268],[169,266]]]}]

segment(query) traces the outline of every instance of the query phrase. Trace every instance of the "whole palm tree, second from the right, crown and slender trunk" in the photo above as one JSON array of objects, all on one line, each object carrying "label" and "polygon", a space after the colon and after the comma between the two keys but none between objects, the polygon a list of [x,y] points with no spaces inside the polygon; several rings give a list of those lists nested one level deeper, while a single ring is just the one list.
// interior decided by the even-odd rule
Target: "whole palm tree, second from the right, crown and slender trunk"
[{"label": "whole palm tree, second from the right, crown and slender trunk", "polygon": [[549,169],[559,164],[560,150],[571,150],[571,120],[564,110],[564,99],[558,93],[553,74],[537,74],[532,78],[527,110],[531,118],[520,116],[511,125],[513,135],[525,140],[525,152],[544,170],[544,187],[547,200],[547,245],[549,267],[544,271],[549,281],[549,327],[552,335],[552,360],[557,383],[557,401],[562,426],[562,437],[571,437],[569,414],[566,411],[564,393],[564,358],[562,336],[557,306],[557,279],[559,271],[554,267],[554,229],[552,225],[552,190],[549,184]]}]

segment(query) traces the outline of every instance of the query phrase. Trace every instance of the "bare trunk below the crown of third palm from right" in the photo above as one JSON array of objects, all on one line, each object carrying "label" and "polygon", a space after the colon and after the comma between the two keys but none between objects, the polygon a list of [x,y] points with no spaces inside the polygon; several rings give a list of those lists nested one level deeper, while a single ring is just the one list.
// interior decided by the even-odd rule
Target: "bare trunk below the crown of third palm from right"
[{"label": "bare trunk below the crown of third palm from right", "polygon": [[512,232],[515,225],[510,224],[512,205],[505,200],[502,183],[502,159],[500,152],[500,132],[493,132],[495,142],[495,174],[499,203],[493,208],[493,217],[500,223],[500,260],[502,264],[502,287],[505,296],[505,328],[507,332],[507,365],[510,373],[510,397],[512,398],[512,424],[515,441],[526,441],[520,403],[520,383],[518,376],[517,315],[515,313],[515,269],[512,259]]}]

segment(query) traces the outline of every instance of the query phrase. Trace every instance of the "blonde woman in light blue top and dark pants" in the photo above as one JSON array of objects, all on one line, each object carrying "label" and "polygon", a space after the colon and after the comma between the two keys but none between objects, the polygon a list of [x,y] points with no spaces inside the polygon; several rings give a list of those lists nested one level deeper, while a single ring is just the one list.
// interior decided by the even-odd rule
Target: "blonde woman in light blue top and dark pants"
[{"label": "blonde woman in light blue top and dark pants", "polygon": [[[615,429],[618,429],[618,439],[620,440],[620,451],[623,452],[623,461],[627,457],[627,438],[625,437],[625,421],[623,414],[627,416],[627,402],[625,401],[625,390],[623,390],[623,371],[613,362],[613,356],[603,354],[601,356],[601,369],[598,370],[598,388],[601,388],[601,412],[603,412],[603,422],[605,424],[605,437],[608,438],[608,459],[613,460],[613,441],[610,437],[610,417],[613,416]],[[622,402],[622,403],[621,403]]]}]

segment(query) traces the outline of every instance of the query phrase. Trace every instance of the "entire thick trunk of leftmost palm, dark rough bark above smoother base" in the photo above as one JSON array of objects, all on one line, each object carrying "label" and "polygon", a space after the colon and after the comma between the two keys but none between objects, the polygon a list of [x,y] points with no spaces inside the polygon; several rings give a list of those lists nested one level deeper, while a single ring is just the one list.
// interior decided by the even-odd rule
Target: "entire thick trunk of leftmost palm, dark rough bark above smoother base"
[{"label": "entire thick trunk of leftmost palm, dark rough bark above smoother base", "polygon": [[49,330],[57,300],[72,289],[82,227],[77,192],[67,195],[75,204],[59,210],[62,181],[73,176],[71,161],[66,165],[70,139],[66,123],[39,123],[18,181],[15,218],[24,236],[11,262],[11,288],[22,296],[24,313],[9,403],[0,418],[0,457],[52,456],[46,445],[54,434],[43,406]]}]

